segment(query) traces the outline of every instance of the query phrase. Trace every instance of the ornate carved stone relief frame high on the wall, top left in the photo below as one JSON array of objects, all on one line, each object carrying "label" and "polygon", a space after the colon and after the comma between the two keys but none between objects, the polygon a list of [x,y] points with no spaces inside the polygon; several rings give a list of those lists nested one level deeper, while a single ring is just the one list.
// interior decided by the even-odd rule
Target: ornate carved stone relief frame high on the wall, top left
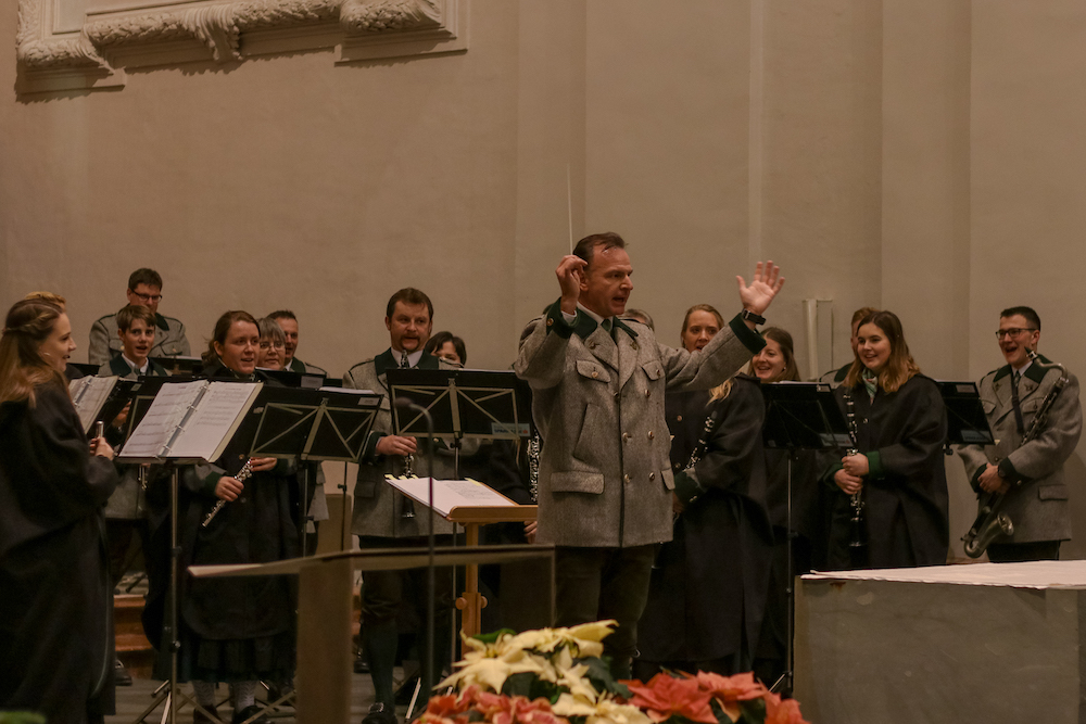
[{"label": "ornate carved stone relief frame high on the wall, top left", "polygon": [[[467,49],[468,0],[209,0],[98,13],[81,33],[58,35],[49,29],[49,1],[20,0],[22,92],[92,88],[103,76],[119,77],[105,85],[123,85],[124,67],[238,62],[285,50],[334,46],[337,62],[346,63]],[[247,47],[247,34],[260,42]],[[277,35],[289,40],[277,43]]]}]

